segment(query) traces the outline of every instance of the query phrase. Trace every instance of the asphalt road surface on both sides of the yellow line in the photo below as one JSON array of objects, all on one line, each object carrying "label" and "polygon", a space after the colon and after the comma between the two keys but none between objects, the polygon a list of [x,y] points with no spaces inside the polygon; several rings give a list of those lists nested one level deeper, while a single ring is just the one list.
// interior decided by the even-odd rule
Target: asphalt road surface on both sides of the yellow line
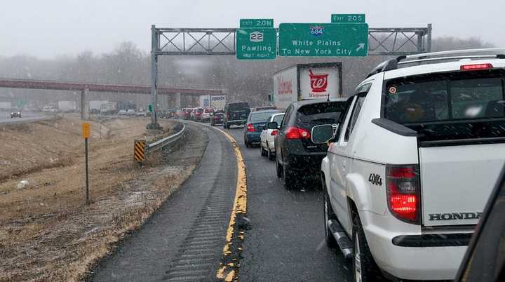
[{"label": "asphalt road surface on both sides of the yellow line", "polygon": [[[236,158],[217,130],[189,126],[208,136],[200,166],[90,281],[215,280],[236,189]],[[243,128],[227,132],[241,146],[247,173],[250,224],[240,281],[353,281],[349,262],[325,246],[322,192],[285,190],[274,161],[243,146]]]}]

